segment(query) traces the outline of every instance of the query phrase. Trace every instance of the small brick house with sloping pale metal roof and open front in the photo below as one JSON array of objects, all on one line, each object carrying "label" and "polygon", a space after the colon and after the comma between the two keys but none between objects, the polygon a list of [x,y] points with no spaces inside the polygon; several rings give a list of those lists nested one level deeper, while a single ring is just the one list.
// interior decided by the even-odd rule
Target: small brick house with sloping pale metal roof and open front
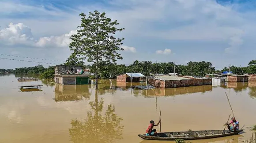
[{"label": "small brick house with sloping pale metal roof and open front", "polygon": [[125,73],[117,76],[117,82],[139,82],[144,77],[141,73]]}]

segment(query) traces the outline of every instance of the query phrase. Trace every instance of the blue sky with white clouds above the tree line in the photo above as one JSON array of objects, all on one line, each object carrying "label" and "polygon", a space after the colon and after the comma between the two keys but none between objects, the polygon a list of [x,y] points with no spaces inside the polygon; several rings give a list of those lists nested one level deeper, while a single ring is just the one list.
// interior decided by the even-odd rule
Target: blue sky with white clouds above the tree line
[{"label": "blue sky with white clouds above the tree line", "polygon": [[79,14],[95,10],[125,28],[116,34],[125,38],[118,64],[209,61],[222,69],[255,60],[256,0],[0,0],[0,68],[63,63]]}]

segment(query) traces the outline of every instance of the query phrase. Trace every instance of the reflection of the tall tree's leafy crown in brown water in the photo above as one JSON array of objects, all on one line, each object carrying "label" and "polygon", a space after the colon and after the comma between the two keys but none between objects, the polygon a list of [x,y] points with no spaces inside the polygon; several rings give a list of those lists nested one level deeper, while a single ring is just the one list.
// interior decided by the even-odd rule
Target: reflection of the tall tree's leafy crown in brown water
[{"label": "reflection of the tall tree's leafy crown in brown water", "polygon": [[95,101],[90,102],[92,111],[87,113],[83,121],[72,119],[69,134],[73,143],[113,143],[122,139],[124,126],[121,125],[122,117],[115,114],[115,106],[109,104],[105,114],[102,114],[104,99],[98,100],[95,92]]}]

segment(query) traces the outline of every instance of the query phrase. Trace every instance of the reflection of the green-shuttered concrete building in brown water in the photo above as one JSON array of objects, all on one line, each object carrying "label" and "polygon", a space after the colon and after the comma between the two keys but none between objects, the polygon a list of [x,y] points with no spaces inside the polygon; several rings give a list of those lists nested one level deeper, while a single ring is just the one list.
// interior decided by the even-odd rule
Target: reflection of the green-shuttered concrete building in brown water
[{"label": "reflection of the green-shuttered concrete building in brown water", "polygon": [[74,101],[90,98],[90,85],[55,85],[56,102]]}]

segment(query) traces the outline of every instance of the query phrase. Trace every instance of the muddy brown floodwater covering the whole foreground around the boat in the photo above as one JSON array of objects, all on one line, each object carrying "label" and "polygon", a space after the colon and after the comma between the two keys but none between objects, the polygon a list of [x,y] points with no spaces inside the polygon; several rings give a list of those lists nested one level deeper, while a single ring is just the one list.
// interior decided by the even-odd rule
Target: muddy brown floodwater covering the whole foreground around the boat
[{"label": "muddy brown floodwater covering the whole foreground around the boat", "polygon": [[[131,83],[102,80],[95,92],[94,85],[17,79],[0,75],[0,143],[174,143],[137,135],[145,133],[150,120],[158,122],[159,107],[162,132],[224,129],[232,115],[225,92],[245,132],[191,142],[242,143],[252,134],[247,127],[256,124],[256,83],[134,90],[128,88]],[[41,90],[19,90],[40,84]]]}]

